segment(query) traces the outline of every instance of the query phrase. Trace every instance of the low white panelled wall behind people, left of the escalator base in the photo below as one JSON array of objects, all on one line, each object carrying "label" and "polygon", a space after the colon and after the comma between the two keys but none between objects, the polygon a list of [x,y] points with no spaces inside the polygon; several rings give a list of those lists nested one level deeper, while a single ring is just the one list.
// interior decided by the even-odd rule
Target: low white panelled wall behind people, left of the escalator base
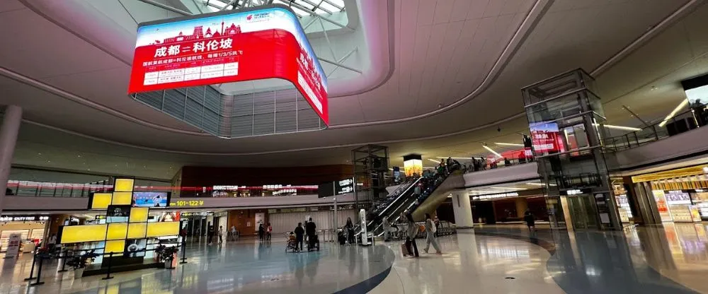
[{"label": "low white panelled wall behind people, left of the escalator base", "polygon": [[[274,234],[289,233],[295,230],[297,223],[304,223],[305,218],[309,216],[317,225],[317,230],[329,230],[334,228],[334,211],[307,211],[307,212],[291,212],[291,213],[270,213],[268,220],[270,225],[273,225]],[[352,218],[352,222],[356,225],[358,218],[354,209],[338,211],[338,226],[343,226],[347,218]]]}]

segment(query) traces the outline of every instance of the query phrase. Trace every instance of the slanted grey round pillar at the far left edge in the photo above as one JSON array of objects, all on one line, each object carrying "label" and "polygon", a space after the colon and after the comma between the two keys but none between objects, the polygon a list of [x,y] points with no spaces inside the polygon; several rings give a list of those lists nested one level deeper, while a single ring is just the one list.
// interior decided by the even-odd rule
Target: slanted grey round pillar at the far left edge
[{"label": "slanted grey round pillar at the far left edge", "polygon": [[3,200],[7,189],[7,180],[10,177],[10,167],[15,153],[17,134],[22,122],[22,108],[8,105],[3,115],[0,128],[0,213],[4,208]]}]

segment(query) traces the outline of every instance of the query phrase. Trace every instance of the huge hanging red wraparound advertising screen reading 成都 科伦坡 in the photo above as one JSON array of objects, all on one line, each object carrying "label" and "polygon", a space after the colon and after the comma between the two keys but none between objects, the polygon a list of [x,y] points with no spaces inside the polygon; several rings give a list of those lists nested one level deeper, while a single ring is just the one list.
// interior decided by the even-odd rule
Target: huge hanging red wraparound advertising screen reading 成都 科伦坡
[{"label": "huge hanging red wraparound advertising screen reading \u6210\u90fd \u79d1\u4f26\u5761", "polygon": [[329,124],[327,79],[282,5],[140,23],[128,93],[280,78]]}]

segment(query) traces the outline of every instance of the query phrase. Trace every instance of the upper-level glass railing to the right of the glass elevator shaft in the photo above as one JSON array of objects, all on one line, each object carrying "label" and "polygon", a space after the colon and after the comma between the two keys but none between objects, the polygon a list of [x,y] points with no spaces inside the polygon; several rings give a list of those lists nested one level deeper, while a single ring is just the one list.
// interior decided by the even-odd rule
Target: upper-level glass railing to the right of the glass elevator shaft
[{"label": "upper-level glass railing to the right of the glass elevator shaft", "polygon": [[[703,105],[703,107],[705,107],[705,105]],[[697,122],[692,112],[693,110],[688,110],[671,117],[666,123],[658,122],[644,127],[644,129],[640,129],[639,131],[609,137],[603,140],[603,147],[607,151],[623,151],[668,138],[675,134],[681,134],[691,129],[696,129],[697,127],[703,127],[704,124]]]}]

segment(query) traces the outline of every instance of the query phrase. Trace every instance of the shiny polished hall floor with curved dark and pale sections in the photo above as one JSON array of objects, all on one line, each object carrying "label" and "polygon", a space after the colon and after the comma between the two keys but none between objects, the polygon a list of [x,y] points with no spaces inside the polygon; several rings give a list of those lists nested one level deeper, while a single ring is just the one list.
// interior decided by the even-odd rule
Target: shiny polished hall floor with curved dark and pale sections
[{"label": "shiny polished hall floor with curved dark and pale sections", "polygon": [[[188,264],[74,280],[43,267],[28,286],[31,257],[0,259],[0,293],[708,293],[708,227],[673,224],[615,232],[520,225],[476,226],[440,237],[442,255],[404,258],[400,242],[373,247],[324,243],[285,253],[285,240],[207,246]],[[432,250],[431,250],[432,251]]]}]

